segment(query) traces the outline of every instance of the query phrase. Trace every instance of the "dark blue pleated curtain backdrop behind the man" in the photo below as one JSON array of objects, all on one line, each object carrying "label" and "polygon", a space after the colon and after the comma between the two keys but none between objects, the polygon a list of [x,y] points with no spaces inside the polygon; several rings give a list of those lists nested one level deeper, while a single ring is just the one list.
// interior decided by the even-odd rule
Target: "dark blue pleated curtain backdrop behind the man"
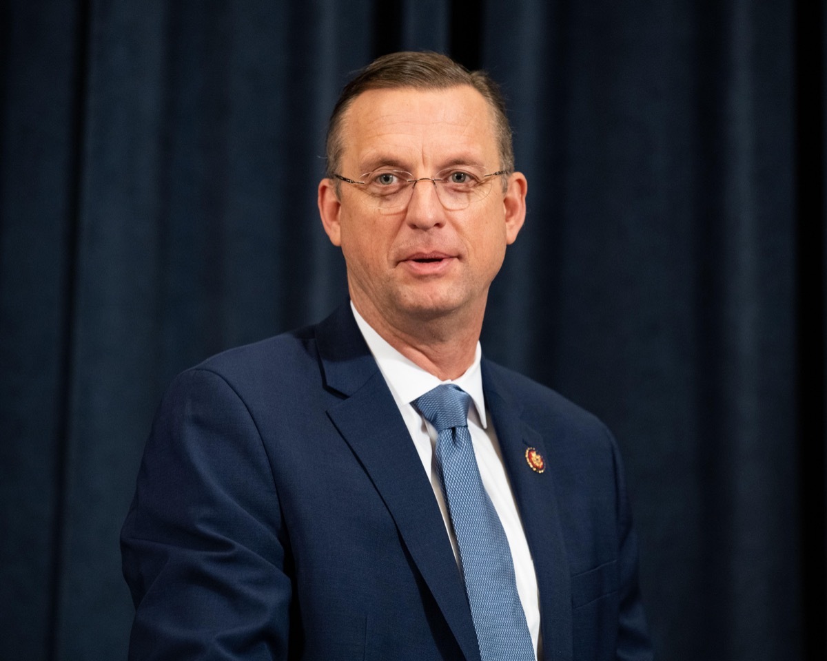
[{"label": "dark blue pleated curtain backdrop behind the man", "polygon": [[[796,0],[7,0],[0,659],[123,659],[117,535],[181,369],[346,296],[349,72],[504,85],[528,221],[491,358],[624,452],[660,659],[824,659],[824,11]],[[530,516],[530,513],[525,513]]]}]

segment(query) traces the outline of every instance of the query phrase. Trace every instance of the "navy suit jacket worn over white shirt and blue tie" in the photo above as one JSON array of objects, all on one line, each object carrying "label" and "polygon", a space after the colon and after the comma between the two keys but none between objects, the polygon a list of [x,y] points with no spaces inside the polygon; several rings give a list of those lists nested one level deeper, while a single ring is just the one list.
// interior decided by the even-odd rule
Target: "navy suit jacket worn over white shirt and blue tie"
[{"label": "navy suit jacket worn over white shirt and blue tie", "polygon": [[[482,378],[543,659],[650,659],[614,439],[528,378],[485,359]],[[347,305],[174,380],[122,553],[130,659],[480,659],[431,483]]]}]

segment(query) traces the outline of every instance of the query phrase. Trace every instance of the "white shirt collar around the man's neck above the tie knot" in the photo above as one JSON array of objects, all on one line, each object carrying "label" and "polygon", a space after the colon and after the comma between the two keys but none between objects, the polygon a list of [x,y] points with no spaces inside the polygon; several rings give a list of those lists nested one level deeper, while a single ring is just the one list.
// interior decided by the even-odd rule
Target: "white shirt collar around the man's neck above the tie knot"
[{"label": "white shirt collar around the man's neck above the tie knot", "polygon": [[385,377],[388,387],[394,391],[394,395],[400,401],[412,403],[441,383],[455,383],[471,396],[471,402],[474,403],[480,427],[485,429],[488,423],[485,420],[485,397],[482,394],[482,372],[480,370],[482,347],[479,341],[476,343],[474,362],[471,363],[471,367],[466,369],[465,373],[458,378],[440,381],[432,373],[422,369],[412,360],[405,358],[404,355],[388,344],[356,311],[352,301],[351,310],[356,319],[356,326],[359,326],[370,353],[373,354],[376,364],[379,365],[382,376]]}]

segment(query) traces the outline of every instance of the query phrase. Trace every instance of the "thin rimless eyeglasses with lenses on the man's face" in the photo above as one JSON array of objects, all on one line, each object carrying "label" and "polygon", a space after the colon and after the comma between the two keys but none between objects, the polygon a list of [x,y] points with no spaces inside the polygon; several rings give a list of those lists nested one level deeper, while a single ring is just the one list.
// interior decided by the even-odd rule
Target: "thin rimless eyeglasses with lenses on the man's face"
[{"label": "thin rimless eyeglasses with lenses on the man's face", "polygon": [[495,178],[507,174],[507,171],[483,173],[485,170],[472,166],[453,166],[440,170],[433,177],[414,178],[409,172],[393,168],[375,169],[363,174],[361,180],[342,177],[341,174],[333,176],[361,188],[367,194],[370,206],[385,212],[398,212],[408,207],[414,195],[414,186],[420,181],[430,181],[437,189],[442,207],[448,211],[460,211],[485,199],[491,192]]}]

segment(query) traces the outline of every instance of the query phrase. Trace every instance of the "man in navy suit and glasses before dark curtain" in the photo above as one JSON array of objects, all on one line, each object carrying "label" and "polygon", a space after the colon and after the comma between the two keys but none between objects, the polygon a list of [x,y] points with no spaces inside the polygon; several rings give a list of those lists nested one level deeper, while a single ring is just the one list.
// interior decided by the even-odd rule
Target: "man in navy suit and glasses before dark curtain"
[{"label": "man in navy suit and glasses before dark curtain", "polygon": [[613,437],[481,356],[526,192],[485,74],[397,53],[347,85],[318,207],[351,300],[174,380],[122,531],[130,659],[491,659],[418,404],[444,383],[507,540],[481,579],[504,626],[531,659],[652,658]]}]

